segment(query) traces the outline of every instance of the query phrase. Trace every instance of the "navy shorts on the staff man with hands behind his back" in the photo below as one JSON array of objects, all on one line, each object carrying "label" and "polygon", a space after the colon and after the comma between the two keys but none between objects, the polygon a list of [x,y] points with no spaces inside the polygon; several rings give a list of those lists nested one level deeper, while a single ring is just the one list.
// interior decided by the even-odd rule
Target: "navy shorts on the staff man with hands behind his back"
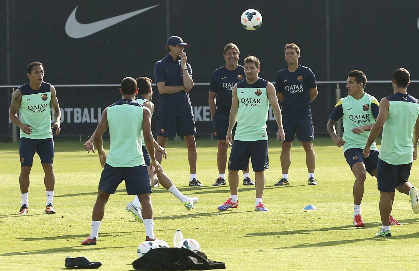
[{"label": "navy shorts on the staff man with hands behind his back", "polygon": [[291,142],[297,133],[298,140],[311,141],[314,139],[314,126],[312,119],[282,119],[284,126],[285,140]]}]

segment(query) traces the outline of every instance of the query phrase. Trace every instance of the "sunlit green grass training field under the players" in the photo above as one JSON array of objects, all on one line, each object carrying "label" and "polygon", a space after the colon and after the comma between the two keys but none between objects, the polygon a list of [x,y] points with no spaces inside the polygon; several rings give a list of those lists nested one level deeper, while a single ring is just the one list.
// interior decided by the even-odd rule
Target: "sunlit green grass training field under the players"
[{"label": "sunlit green grass training field under the players", "polygon": [[[238,209],[219,212],[229,197],[228,185],[211,186],[217,178],[216,141],[197,140],[197,176],[202,188],[189,188],[189,165],[184,142],[169,141],[163,167],[184,194],[198,196],[194,209],[184,206],[161,186],[154,188],[155,235],[173,244],[173,234],[200,243],[208,258],[225,262],[228,270],[289,269],[416,269],[419,256],[419,216],[409,196],[396,194],[393,237],[377,238],[381,225],[376,179],[367,176],[362,217],[367,225],[352,225],[354,177],[330,138],[314,141],[318,186],[308,186],[305,152],[299,142],[292,148],[291,185],[274,187],[281,176],[279,142],[269,142],[264,203],[269,212],[254,212],[254,187],[239,186]],[[109,148],[109,142],[105,142]],[[18,145],[0,143],[0,269],[58,270],[67,256],[101,261],[101,270],[131,270],[137,246],[145,239],[144,225],[125,211],[132,196],[122,184],[106,205],[96,246],[80,242],[90,233],[93,204],[101,174],[98,155],[87,153],[80,142],[56,142],[55,215],[45,215],[44,174],[35,155],[29,187],[29,214],[18,216],[21,199]],[[411,182],[419,185],[414,163]],[[251,177],[254,174],[251,173]],[[313,204],[318,209],[302,208]]]}]

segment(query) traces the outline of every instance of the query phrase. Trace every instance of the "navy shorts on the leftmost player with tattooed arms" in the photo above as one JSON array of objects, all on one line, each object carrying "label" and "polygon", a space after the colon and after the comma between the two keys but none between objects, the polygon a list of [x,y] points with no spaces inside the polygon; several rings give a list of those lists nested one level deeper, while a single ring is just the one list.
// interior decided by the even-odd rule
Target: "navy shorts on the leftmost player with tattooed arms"
[{"label": "navy shorts on the leftmost player with tattooed arms", "polygon": [[19,156],[21,167],[31,166],[36,153],[41,158],[41,163],[54,163],[54,139],[31,139],[21,137],[19,139]]}]

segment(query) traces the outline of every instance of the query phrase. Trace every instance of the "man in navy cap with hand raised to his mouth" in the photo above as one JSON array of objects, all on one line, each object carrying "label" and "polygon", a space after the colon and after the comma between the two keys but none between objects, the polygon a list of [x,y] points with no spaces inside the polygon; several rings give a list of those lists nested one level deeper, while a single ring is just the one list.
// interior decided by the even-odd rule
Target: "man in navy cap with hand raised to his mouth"
[{"label": "man in navy cap with hand raised to his mouth", "polygon": [[[154,65],[154,77],[159,91],[157,114],[157,142],[166,147],[167,138],[176,134],[183,136],[188,148],[188,161],[191,177],[189,186],[203,186],[197,179],[197,146],[195,142],[194,114],[192,112],[189,90],[194,86],[192,68],[186,63],[187,57],[181,37],[171,36],[166,41],[166,57]],[[159,163],[163,157],[155,152]]]}]

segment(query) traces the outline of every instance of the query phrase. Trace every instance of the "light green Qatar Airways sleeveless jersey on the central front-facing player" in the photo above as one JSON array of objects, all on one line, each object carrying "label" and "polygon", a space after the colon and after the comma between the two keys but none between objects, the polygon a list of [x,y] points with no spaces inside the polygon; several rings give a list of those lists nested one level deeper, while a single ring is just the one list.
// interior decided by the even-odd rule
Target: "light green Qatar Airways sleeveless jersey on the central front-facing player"
[{"label": "light green Qatar Airways sleeveless jersey on the central front-facing player", "polygon": [[246,79],[237,83],[237,127],[234,140],[268,140],[266,120],[268,119],[269,100],[266,93],[268,81],[259,78],[249,84]]}]

